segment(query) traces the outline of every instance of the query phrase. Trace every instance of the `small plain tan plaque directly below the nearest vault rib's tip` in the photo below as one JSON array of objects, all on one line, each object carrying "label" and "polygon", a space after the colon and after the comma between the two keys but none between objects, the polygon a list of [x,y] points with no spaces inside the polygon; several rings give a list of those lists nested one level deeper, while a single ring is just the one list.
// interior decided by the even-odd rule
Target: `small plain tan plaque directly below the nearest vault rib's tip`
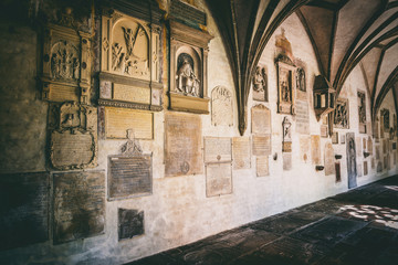
[{"label": "small plain tan plaque directly below the nearest vault rib's tip", "polygon": [[233,169],[251,168],[251,150],[249,137],[232,138]]}]

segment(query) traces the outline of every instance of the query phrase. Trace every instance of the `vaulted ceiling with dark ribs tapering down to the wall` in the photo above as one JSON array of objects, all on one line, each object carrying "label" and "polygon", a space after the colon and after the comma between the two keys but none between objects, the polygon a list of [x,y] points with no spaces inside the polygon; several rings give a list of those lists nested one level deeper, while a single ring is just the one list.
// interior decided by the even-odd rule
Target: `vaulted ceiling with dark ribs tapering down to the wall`
[{"label": "vaulted ceiling with dark ribs tapering down to the wall", "polygon": [[[239,130],[247,128],[251,77],[271,35],[296,13],[318,68],[337,94],[357,65],[375,118],[387,92],[398,86],[398,0],[206,0],[221,32],[234,77]],[[396,104],[397,107],[397,104]],[[398,110],[398,109],[397,109]]]}]

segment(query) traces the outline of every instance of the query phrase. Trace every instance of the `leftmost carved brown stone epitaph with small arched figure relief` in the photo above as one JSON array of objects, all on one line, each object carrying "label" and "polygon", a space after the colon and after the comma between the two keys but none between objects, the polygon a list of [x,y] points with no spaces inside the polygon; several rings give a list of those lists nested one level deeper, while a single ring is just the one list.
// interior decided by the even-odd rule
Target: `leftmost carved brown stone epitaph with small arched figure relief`
[{"label": "leftmost carved brown stone epitaph with small arched figure relief", "polygon": [[43,41],[42,98],[50,102],[90,102],[90,35],[49,24]]}]

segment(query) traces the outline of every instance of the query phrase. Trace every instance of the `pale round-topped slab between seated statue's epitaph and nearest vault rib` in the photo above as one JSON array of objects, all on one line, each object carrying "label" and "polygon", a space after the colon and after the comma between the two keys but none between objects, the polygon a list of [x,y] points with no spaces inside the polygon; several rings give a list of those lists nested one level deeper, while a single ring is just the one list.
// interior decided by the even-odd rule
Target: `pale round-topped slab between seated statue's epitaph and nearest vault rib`
[{"label": "pale round-topped slab between seated statue's epitaph and nearest vault rib", "polygon": [[211,92],[211,124],[213,126],[233,126],[232,93],[223,86]]}]

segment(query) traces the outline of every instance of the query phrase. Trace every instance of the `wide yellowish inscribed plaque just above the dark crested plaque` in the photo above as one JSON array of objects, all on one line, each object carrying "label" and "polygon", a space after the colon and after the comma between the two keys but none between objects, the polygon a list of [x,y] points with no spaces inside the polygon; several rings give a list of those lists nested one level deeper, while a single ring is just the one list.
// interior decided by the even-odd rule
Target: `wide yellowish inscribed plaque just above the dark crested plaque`
[{"label": "wide yellowish inscribed plaque just above the dark crested plaque", "polygon": [[127,129],[133,129],[136,139],[154,139],[154,114],[105,107],[106,138],[126,139]]}]

